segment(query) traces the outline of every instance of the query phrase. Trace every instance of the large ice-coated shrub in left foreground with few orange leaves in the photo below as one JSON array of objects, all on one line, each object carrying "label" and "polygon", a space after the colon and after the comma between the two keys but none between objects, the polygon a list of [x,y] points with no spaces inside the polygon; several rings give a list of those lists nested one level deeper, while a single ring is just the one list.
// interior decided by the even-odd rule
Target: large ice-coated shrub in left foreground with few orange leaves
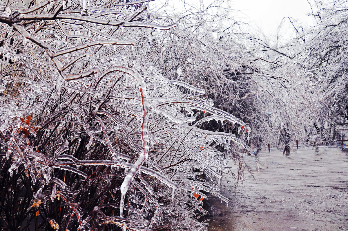
[{"label": "large ice-coated shrub in left foreground with few orange leaves", "polygon": [[1,228],[205,230],[204,198],[228,201],[231,147],[253,152],[201,127],[251,129],[139,55],[149,31],[176,26],[144,2],[0,6]]}]

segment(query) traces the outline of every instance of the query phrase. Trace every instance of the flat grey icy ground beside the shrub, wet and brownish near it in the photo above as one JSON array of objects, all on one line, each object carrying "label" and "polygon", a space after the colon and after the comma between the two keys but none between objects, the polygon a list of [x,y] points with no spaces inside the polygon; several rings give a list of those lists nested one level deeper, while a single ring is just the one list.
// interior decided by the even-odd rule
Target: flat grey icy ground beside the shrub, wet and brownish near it
[{"label": "flat grey icy ground beside the shrub, wet and brownish near it", "polygon": [[254,160],[245,157],[253,176],[246,170],[236,191],[230,176],[222,180],[227,208],[206,198],[209,231],[348,231],[347,152],[302,148],[286,158],[280,151],[263,151],[259,160],[257,172]]}]

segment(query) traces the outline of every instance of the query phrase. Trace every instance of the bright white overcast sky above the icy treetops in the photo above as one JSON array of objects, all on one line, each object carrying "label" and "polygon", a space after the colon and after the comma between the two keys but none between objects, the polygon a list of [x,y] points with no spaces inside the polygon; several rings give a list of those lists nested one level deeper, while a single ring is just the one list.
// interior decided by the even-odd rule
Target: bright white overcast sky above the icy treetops
[{"label": "bright white overcast sky above the icy treetops", "polygon": [[[159,0],[152,3],[157,5],[167,2],[169,7],[167,9],[183,12],[183,2],[196,7],[202,3],[201,1],[206,7],[214,0]],[[261,29],[265,35],[275,36],[284,17],[292,17],[298,19],[299,22],[313,25],[312,17],[308,16],[311,8],[307,0],[225,0],[224,2],[234,9],[231,16],[235,20],[249,23],[255,30]],[[288,35],[286,35],[287,33]],[[293,33],[293,27],[287,19],[283,34],[291,36],[291,33]]]}]

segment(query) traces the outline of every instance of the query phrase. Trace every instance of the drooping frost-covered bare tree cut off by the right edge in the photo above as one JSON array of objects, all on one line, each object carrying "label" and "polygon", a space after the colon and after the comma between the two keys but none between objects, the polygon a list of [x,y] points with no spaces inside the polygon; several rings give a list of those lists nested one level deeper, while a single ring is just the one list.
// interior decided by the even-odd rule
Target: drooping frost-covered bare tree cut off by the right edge
[{"label": "drooping frost-covered bare tree cut off by the right edge", "polygon": [[317,25],[312,28],[301,55],[307,58],[307,68],[315,75],[322,92],[322,117],[317,119],[315,131],[331,140],[341,135],[340,131],[348,124],[348,2],[314,1],[312,6]]}]

